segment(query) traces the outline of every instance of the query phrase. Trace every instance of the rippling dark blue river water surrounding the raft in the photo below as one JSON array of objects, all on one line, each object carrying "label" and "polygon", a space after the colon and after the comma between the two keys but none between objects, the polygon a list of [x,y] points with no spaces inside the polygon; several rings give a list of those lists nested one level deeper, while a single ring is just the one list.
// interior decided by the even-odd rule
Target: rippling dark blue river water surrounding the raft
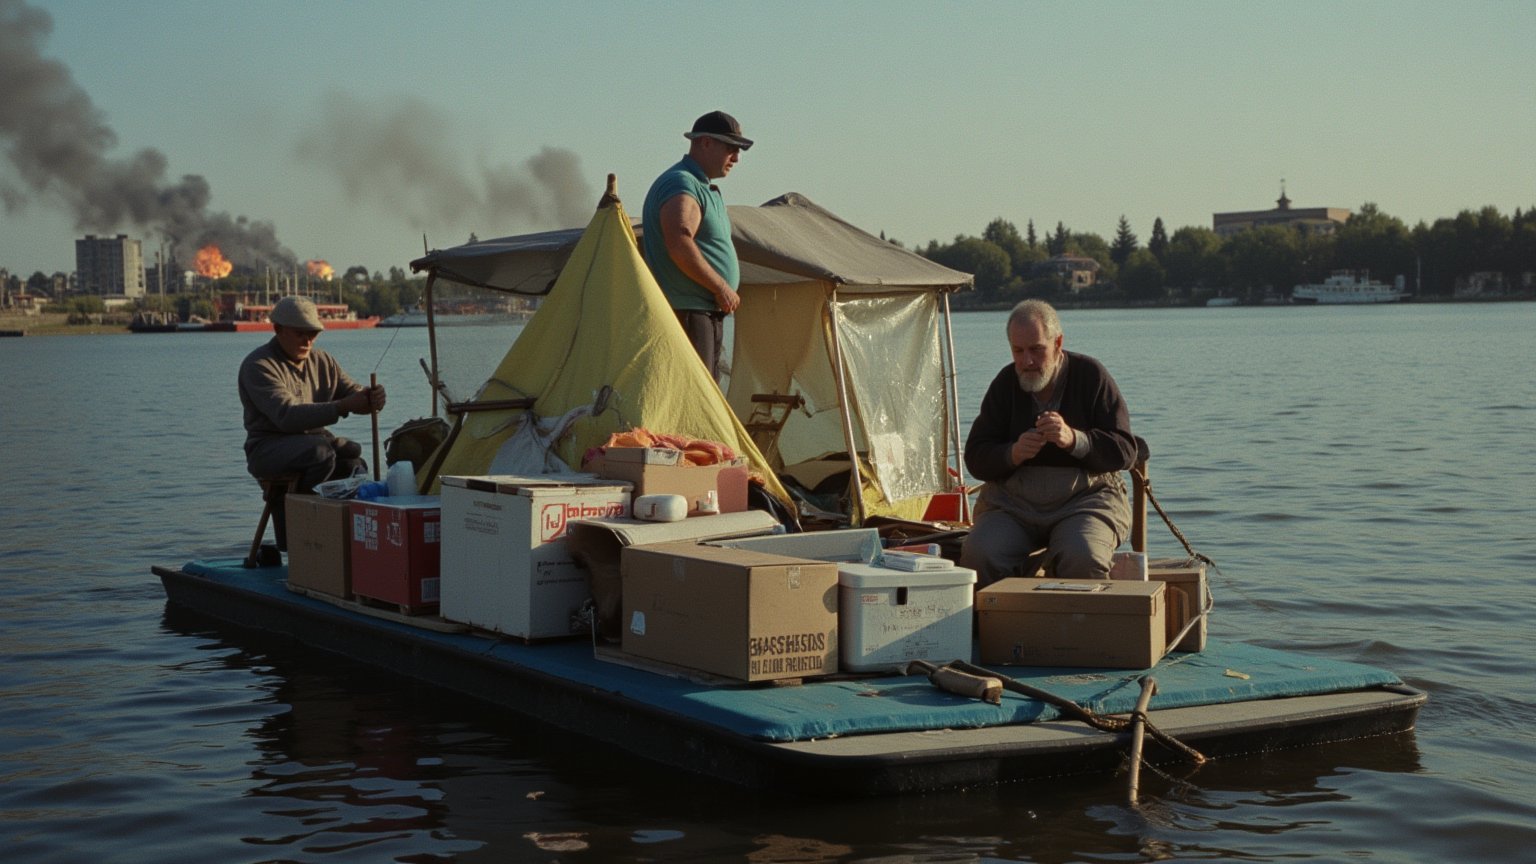
[{"label": "rippling dark blue river water surrounding the raft", "polygon": [[[1220,566],[1212,635],[1392,669],[1430,693],[1415,733],[1144,778],[1140,809],[1124,778],[826,803],[679,776],[167,615],[151,564],[255,526],[235,369],[264,337],[11,338],[0,859],[1530,861],[1536,304],[1063,320]],[[1003,315],[957,315],[955,341],[965,429]],[[425,332],[321,344],[389,386],[386,434],[430,412]]]}]

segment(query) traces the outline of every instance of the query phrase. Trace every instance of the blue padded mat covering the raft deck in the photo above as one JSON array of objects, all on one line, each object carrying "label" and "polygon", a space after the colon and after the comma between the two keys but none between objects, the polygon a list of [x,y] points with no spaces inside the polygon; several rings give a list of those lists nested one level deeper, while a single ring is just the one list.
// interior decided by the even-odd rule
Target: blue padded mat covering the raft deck
[{"label": "blue padded mat covering the raft deck", "polygon": [[[240,560],[194,561],[183,572],[309,607],[382,630],[495,658],[581,687],[622,695],[657,710],[763,741],[803,741],[834,735],[968,729],[1057,719],[1038,700],[1003,693],[1003,704],[966,700],[934,687],[923,676],[840,681],[806,680],[803,686],[710,686],[605,663],[585,641],[522,644],[478,633],[442,633],[372,618],[323,600],[289,592],[286,567],[246,570]],[[1401,684],[1382,669],[1243,643],[1207,641],[1200,653],[1170,653],[1150,670],[997,667],[997,672],[1072,700],[1095,713],[1127,713],[1141,693],[1138,680],[1157,678],[1154,709],[1241,703]]]}]

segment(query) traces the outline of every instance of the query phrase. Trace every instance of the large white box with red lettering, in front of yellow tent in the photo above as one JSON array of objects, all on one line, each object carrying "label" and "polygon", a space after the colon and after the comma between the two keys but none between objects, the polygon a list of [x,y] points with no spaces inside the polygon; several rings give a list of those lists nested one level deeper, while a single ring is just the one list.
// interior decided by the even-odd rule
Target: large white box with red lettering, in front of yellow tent
[{"label": "large white box with red lettering, in front of yellow tent", "polygon": [[565,532],[628,512],[628,484],[593,475],[444,477],[442,616],[524,640],[585,633]]}]

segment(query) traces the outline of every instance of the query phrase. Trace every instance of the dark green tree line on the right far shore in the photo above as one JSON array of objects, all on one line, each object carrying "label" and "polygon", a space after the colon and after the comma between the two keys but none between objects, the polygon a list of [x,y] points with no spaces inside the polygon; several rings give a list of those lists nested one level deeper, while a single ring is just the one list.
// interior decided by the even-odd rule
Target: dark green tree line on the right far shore
[{"label": "dark green tree line on the right far shore", "polygon": [[[1198,226],[1169,235],[1158,218],[1146,244],[1124,217],[1107,241],[1060,221],[1041,237],[1029,220],[1020,234],[1014,223],[995,218],[980,237],[932,240],[915,252],[975,275],[975,291],[957,295],[957,307],[1005,306],[1026,297],[1104,306],[1198,304],[1218,294],[1260,303],[1344,269],[1369,271],[1385,283],[1401,275],[1412,294],[1427,298],[1453,297],[1473,274],[1496,274],[1504,292],[1528,294],[1530,274],[1536,274],[1536,208],[1504,215],[1488,206],[1409,228],[1366,203],[1327,234],[1266,226],[1230,237]],[[1055,255],[1092,258],[1095,284],[1074,292],[1064,275],[1041,266]]]}]

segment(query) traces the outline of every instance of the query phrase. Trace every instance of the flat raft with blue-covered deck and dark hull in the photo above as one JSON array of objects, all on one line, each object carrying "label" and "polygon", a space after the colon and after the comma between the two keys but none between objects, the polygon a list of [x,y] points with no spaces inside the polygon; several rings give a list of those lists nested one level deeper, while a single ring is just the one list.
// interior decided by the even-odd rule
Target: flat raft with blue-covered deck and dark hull
[{"label": "flat raft with blue-covered deck and dark hull", "polygon": [[[244,569],[238,558],[154,572],[172,607],[754,789],[892,795],[1107,772],[1123,763],[1130,738],[1064,719],[1040,700],[1005,692],[989,704],[938,690],[922,675],[720,684],[613,663],[585,641],[524,644],[432,629],[441,620],[295,593],[286,567]],[[1150,670],[997,672],[1098,715],[1134,712],[1140,681],[1152,675],[1147,719],[1212,758],[1407,732],[1425,701],[1390,672],[1215,640]],[[1150,739],[1144,755],[1180,759]]]}]

